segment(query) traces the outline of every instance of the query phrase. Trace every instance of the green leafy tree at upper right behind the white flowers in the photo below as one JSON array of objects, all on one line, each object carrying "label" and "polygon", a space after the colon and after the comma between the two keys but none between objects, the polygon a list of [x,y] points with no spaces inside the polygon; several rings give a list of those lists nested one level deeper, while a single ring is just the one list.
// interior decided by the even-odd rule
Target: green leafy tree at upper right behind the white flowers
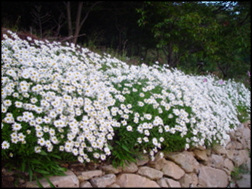
[{"label": "green leafy tree at upper right behind the white flowers", "polygon": [[230,62],[242,59],[242,52],[250,49],[247,6],[230,2],[145,2],[138,9],[138,23],[152,32],[171,67],[194,57],[195,63],[203,60],[208,68],[217,67],[227,77],[234,68]]}]

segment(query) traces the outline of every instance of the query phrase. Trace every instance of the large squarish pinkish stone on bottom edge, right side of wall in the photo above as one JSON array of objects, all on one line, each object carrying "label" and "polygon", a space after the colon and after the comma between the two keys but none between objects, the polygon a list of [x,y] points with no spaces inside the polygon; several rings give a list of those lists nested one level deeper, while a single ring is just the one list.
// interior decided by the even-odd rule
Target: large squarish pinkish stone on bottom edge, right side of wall
[{"label": "large squarish pinkish stone on bottom edge, right side of wall", "polygon": [[223,170],[201,166],[199,169],[199,186],[227,187],[228,176]]}]

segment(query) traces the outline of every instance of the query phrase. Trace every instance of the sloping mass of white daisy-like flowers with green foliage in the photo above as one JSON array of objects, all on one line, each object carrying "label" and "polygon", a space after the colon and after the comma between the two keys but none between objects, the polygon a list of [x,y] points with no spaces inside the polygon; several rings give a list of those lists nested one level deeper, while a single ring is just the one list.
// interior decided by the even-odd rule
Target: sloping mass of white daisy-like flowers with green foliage
[{"label": "sloping mass of white daisy-like flowers with green foliage", "polygon": [[60,160],[119,165],[142,153],[225,145],[250,119],[250,91],[233,80],[130,66],[11,31],[3,38],[2,160],[31,178],[60,174]]}]

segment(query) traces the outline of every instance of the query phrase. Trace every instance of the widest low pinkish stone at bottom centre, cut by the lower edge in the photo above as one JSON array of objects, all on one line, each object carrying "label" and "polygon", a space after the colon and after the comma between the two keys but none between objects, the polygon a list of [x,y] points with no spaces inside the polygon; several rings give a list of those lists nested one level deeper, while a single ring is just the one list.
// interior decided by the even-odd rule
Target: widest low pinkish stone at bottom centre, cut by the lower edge
[{"label": "widest low pinkish stone at bottom centre, cut by the lower edge", "polygon": [[117,177],[116,184],[120,187],[160,187],[155,181],[152,181],[146,177],[123,173]]}]

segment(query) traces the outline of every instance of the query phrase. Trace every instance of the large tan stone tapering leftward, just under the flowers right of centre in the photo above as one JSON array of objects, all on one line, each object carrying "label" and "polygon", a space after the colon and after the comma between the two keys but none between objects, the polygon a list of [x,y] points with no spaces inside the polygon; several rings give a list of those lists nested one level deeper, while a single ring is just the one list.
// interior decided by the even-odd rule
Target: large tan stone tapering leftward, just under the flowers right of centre
[{"label": "large tan stone tapering leftward, just under the flowers right of centre", "polygon": [[179,164],[187,173],[198,172],[199,162],[194,158],[193,152],[170,153],[167,155],[167,158]]}]

